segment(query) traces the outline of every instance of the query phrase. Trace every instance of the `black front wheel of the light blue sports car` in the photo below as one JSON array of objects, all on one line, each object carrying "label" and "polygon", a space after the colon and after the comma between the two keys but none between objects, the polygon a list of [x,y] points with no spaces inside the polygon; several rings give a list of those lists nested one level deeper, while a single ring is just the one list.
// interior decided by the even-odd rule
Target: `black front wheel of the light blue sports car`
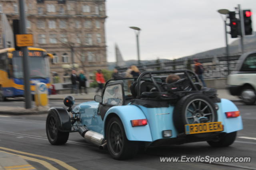
[{"label": "black front wheel of the light blue sports car", "polygon": [[53,111],[49,111],[46,119],[46,134],[48,141],[52,145],[63,145],[68,141],[69,132],[61,132],[58,129],[59,125],[58,115]]}]

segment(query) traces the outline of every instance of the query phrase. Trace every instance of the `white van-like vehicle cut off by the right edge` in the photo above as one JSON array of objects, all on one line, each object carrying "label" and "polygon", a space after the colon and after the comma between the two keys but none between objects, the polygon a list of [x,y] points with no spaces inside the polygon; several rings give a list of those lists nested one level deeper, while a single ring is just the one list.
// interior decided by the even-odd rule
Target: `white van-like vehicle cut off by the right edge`
[{"label": "white van-like vehicle cut off by the right edge", "polygon": [[256,101],[256,52],[241,55],[235,72],[228,76],[227,88],[231,95],[240,96],[247,105]]}]

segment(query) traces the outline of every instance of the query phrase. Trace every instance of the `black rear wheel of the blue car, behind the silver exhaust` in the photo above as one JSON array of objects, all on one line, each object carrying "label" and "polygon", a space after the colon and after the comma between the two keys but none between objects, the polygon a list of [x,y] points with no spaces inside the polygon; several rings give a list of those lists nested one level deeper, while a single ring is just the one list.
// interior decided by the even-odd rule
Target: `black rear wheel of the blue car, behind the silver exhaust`
[{"label": "black rear wheel of the blue car, behind the silver exhaust", "polygon": [[138,142],[128,141],[124,126],[118,117],[112,117],[108,121],[106,132],[108,152],[114,159],[131,159],[137,154]]}]

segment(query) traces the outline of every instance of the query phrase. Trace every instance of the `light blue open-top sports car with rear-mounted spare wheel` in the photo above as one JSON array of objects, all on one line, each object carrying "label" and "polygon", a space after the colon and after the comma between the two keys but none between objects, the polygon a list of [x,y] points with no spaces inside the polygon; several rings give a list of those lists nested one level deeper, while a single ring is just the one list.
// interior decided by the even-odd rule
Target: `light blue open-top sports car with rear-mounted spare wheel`
[{"label": "light blue open-top sports car with rear-mounted spare wheel", "polygon": [[[173,75],[178,80],[166,83]],[[177,76],[178,75],[178,76]],[[52,107],[46,133],[52,145],[62,145],[70,132],[107,148],[114,159],[128,159],[139,147],[207,141],[212,147],[231,145],[243,128],[238,108],[201,86],[190,70],[142,72],[138,78],[109,80],[95,101],[68,108]],[[69,113],[70,112],[70,113]]]}]

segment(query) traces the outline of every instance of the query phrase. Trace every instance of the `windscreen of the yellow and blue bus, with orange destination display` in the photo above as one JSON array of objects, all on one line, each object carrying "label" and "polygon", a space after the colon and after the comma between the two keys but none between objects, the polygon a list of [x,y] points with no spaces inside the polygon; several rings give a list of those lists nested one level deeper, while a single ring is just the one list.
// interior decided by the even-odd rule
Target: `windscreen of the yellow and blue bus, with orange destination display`
[{"label": "windscreen of the yellow and blue bus, with orange destination display", "polygon": [[[29,51],[30,78],[49,78],[50,68],[48,58],[43,51]],[[14,51],[13,58],[14,78],[23,78],[22,53]]]}]

